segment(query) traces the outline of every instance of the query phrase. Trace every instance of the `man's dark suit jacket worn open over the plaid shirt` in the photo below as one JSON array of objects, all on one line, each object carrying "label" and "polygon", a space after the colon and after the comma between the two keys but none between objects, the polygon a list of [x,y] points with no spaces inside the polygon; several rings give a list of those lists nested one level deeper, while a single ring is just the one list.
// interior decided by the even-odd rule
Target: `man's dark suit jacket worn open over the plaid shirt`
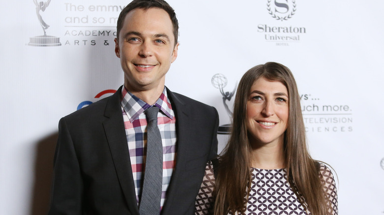
[{"label": "man's dark suit jacket worn open over the plaid shirt", "polygon": [[[139,215],[119,90],[59,122],[49,215]],[[213,107],[167,89],[176,166],[162,215],[192,215],[205,164],[217,155]]]}]

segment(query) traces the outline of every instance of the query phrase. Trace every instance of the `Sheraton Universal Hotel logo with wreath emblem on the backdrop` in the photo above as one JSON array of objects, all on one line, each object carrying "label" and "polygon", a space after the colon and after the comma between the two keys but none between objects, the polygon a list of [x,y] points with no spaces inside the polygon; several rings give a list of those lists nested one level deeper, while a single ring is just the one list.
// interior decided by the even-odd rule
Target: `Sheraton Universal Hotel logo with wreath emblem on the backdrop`
[{"label": "Sheraton Universal Hotel logo with wreath emblem on the backdrop", "polygon": [[294,19],[297,4],[296,0],[267,0],[266,11],[275,24],[258,24],[257,32],[263,34],[266,42],[276,43],[277,46],[289,46],[291,43],[300,42],[307,33],[305,27],[289,25]]}]

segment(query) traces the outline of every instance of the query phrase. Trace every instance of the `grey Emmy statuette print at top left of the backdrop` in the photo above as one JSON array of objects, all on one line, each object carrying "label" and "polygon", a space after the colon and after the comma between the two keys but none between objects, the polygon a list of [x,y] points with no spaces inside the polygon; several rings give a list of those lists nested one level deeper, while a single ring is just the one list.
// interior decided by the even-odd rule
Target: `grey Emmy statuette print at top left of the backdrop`
[{"label": "grey Emmy statuette print at top left of the backdrop", "polygon": [[44,35],[41,36],[35,36],[30,37],[30,42],[28,43],[29,46],[61,46],[60,38],[55,36],[49,36],[47,35],[47,32],[45,31],[48,29],[49,25],[44,22],[43,18],[40,15],[40,11],[44,12],[45,9],[49,6],[49,3],[51,3],[51,0],[47,0],[45,2],[37,0],[33,0],[33,3],[36,6],[36,16],[37,19],[43,28]]}]

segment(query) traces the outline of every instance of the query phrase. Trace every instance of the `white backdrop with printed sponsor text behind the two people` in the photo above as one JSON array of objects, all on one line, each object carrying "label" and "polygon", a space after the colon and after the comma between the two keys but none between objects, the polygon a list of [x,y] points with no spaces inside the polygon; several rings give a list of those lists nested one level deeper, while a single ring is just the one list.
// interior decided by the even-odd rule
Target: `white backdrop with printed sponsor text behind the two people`
[{"label": "white backdrop with printed sponsor text behind the two people", "polygon": [[[226,77],[231,92],[249,68],[283,63],[302,95],[311,154],[337,172],[340,215],[384,214],[384,1],[168,2],[181,44],[166,78],[172,91],[216,107],[228,124],[212,77]],[[2,3],[1,215],[47,212],[59,119],[123,84],[113,39],[127,3],[52,0],[39,11],[47,35],[60,38],[52,47],[30,46],[44,34],[33,0]]]}]

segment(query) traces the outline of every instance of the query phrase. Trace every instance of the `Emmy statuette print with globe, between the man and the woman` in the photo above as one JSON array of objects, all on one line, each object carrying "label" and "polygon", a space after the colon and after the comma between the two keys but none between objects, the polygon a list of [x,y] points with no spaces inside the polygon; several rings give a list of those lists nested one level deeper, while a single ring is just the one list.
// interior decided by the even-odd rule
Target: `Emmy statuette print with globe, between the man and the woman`
[{"label": "Emmy statuette print with globe, between the man and the woman", "polygon": [[[229,115],[229,118],[232,117],[232,111],[228,108],[228,105],[226,104],[226,101],[230,101],[233,95],[236,92],[236,85],[235,88],[232,90],[232,92],[224,92],[224,87],[226,86],[228,80],[225,78],[223,74],[216,74],[212,77],[212,85],[215,88],[218,88],[220,90],[220,93],[223,96],[223,104],[226,112]],[[230,124],[219,126],[218,134],[229,134],[230,133]]]}]

